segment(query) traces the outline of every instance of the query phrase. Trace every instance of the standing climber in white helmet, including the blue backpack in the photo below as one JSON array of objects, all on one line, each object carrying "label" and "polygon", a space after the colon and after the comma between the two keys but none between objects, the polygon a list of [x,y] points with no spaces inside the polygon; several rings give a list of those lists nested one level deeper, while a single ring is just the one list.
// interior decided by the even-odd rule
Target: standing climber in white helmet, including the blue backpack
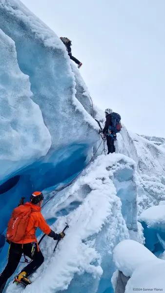
[{"label": "standing climber in white helmet, including the blue backpack", "polygon": [[113,112],[112,109],[105,109],[105,126],[103,128],[103,135],[106,136],[106,143],[108,148],[108,153],[115,152],[114,141],[116,140],[116,133],[120,132],[121,125],[121,116],[118,113]]}]

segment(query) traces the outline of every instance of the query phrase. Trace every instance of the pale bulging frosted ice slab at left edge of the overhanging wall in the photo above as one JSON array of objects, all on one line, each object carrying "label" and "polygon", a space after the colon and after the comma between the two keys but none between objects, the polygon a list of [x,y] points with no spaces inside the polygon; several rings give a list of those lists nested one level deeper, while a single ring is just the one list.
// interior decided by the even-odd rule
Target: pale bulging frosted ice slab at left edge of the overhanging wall
[{"label": "pale bulging frosted ice slab at left edge of the overhanging wall", "polygon": [[17,63],[15,43],[2,30],[0,54],[1,181],[21,168],[25,159],[33,163],[46,155],[51,137],[39,105],[31,99],[29,77],[21,72]]}]

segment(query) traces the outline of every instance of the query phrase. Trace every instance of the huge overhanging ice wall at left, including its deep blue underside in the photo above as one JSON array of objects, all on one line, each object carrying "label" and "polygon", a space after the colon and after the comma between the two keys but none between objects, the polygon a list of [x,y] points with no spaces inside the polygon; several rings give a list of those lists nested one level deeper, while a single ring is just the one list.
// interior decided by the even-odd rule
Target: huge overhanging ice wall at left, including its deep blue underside
[{"label": "huge overhanging ice wall at left, including its deep blue underside", "polygon": [[0,183],[20,176],[8,201],[0,197],[2,232],[21,193],[28,199],[76,174],[100,136],[57,35],[19,0],[0,0],[0,29]]}]

